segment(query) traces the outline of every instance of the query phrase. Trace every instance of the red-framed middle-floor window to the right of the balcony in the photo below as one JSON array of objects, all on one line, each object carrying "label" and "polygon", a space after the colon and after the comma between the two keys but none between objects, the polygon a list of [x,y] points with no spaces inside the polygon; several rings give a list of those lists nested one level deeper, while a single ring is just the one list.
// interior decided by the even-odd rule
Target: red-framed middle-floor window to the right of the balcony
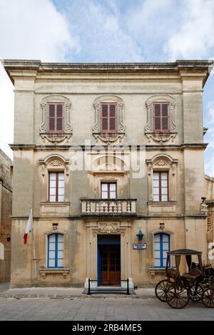
[{"label": "red-framed middle-floor window to the right of the balcony", "polygon": [[168,171],[153,172],[153,201],[168,201]]}]

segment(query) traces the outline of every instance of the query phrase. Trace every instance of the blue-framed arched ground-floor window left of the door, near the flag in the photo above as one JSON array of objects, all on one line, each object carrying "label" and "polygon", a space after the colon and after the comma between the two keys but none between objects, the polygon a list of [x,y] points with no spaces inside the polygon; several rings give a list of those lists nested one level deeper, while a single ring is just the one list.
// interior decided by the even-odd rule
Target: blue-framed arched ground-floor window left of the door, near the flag
[{"label": "blue-framed arched ground-floor window left of the door, near the flag", "polygon": [[48,236],[47,267],[63,267],[63,234]]}]

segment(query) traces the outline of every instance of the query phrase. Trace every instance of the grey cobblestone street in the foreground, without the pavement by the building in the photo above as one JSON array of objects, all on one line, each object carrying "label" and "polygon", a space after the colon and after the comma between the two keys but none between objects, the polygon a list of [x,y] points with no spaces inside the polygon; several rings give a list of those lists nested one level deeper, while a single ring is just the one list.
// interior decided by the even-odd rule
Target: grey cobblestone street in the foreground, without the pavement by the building
[{"label": "grey cobblestone street in the foreground, without the pavement by the building", "polygon": [[190,302],[184,309],[171,309],[157,299],[73,298],[5,299],[0,298],[0,321],[143,321],[143,320],[213,320],[214,310]]}]

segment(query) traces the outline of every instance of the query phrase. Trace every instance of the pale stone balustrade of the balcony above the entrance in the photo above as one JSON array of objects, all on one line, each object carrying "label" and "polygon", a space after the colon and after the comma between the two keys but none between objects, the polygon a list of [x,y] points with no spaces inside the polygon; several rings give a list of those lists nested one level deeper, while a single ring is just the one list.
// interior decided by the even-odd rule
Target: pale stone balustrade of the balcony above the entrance
[{"label": "pale stone balustrade of the balcony above the entrance", "polygon": [[136,201],[81,198],[81,215],[136,215]]}]

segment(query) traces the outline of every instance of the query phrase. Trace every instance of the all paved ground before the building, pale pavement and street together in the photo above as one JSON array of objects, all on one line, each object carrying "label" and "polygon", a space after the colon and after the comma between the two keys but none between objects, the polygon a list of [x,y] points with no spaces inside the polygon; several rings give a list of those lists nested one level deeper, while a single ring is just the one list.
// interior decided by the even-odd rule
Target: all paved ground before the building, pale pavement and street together
[{"label": "all paved ground before the building, pale pavement and street together", "polygon": [[191,301],[184,309],[172,309],[156,299],[152,288],[138,289],[131,296],[96,294],[88,297],[82,292],[83,289],[62,288],[9,289],[9,283],[1,283],[0,321],[214,320],[214,309]]}]

